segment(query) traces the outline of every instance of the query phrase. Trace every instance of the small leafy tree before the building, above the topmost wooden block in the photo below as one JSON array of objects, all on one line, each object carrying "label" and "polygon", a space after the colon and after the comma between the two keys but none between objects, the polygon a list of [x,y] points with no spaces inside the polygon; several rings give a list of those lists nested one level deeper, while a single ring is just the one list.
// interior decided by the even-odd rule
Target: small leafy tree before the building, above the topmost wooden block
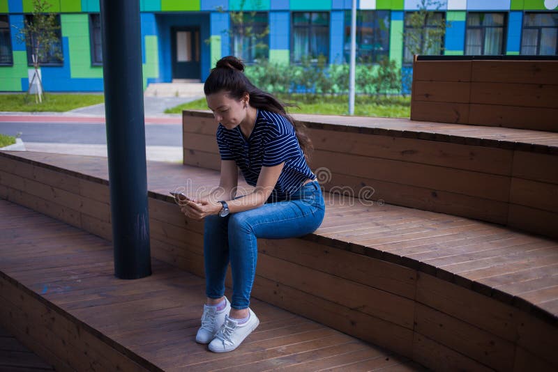
[{"label": "small leafy tree before the building, above the topmost wooden block", "polygon": [[[442,40],[446,34],[446,20],[444,17],[436,17],[434,8],[439,10],[442,1],[421,0],[418,11],[411,13],[405,20],[404,32],[405,48],[412,54],[432,54],[442,52],[444,46]],[[447,24],[447,26],[451,26]]]}]

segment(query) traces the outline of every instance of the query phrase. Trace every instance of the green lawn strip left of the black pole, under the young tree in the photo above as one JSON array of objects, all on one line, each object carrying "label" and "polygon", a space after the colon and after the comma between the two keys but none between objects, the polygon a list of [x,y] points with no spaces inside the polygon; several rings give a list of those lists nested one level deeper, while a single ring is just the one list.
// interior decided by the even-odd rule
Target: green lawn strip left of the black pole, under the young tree
[{"label": "green lawn strip left of the black pole, under the young tree", "polygon": [[43,103],[35,103],[35,95],[29,95],[27,103],[25,94],[0,94],[0,111],[54,111],[63,112],[80,107],[105,102],[102,94],[56,94],[46,93]]}]

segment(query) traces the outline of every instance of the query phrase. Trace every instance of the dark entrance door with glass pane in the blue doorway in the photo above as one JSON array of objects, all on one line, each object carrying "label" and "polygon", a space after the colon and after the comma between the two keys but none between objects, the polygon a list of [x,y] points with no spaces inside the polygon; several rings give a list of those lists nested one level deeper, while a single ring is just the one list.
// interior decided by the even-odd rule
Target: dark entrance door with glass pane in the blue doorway
[{"label": "dark entrance door with glass pane in the blue doorway", "polygon": [[173,27],[172,79],[200,79],[199,27]]}]

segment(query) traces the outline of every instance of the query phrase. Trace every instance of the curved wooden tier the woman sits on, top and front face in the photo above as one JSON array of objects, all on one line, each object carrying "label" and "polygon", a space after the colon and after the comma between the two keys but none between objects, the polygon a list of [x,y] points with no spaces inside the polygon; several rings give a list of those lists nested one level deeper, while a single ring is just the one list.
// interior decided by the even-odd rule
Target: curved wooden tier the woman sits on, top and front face
[{"label": "curved wooden tier the woman sits on, top and front face", "polygon": [[[148,184],[152,255],[202,276],[202,224],[166,193],[217,185],[218,172],[149,162]],[[111,238],[105,158],[0,153],[0,196]],[[557,240],[325,198],[315,233],[259,241],[254,297],[431,368],[558,366]]]}]

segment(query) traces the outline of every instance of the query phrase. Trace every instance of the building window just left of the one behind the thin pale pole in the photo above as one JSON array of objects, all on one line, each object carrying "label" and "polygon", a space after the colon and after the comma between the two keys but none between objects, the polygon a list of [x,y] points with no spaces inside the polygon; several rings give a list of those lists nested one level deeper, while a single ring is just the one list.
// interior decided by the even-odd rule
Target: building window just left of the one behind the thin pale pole
[{"label": "building window just left of the one behind the thin pale pole", "polygon": [[303,58],[317,61],[318,56],[329,56],[329,13],[292,13],[291,56],[293,62]]}]

